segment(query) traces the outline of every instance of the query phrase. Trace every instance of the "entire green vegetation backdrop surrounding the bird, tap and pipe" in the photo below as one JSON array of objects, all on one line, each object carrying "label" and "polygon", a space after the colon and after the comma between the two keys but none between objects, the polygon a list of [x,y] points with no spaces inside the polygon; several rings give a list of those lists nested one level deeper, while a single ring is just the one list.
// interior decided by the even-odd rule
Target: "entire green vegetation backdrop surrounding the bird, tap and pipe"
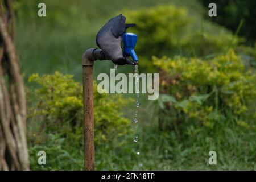
[{"label": "entire green vegetation backdrop surrounding the bird, tap and pipe", "polygon": [[[123,13],[137,23],[129,31],[138,35],[139,72],[159,73],[160,96],[140,94],[134,131],[135,95],[98,94],[95,82],[96,169],[255,170],[255,2],[225,2],[216,2],[211,18],[208,1],[16,1],[31,169],[83,168],[81,56]],[[110,68],[96,61],[94,80]],[[45,166],[37,163],[40,150]],[[211,150],[217,165],[208,163]]]}]

